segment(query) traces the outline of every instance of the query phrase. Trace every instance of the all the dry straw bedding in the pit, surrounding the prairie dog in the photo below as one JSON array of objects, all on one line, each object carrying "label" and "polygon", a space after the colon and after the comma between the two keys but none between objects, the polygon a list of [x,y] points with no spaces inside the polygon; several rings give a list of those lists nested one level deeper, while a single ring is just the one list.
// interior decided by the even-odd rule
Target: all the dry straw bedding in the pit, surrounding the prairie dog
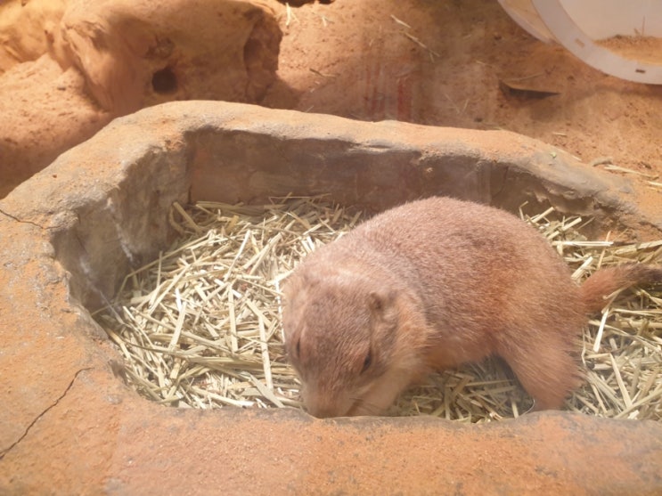
[{"label": "all the dry straw bedding in the pit, surrounding the prairie dog", "polygon": [[[524,216],[524,215],[523,215]],[[601,266],[662,262],[662,240],[585,240],[579,217],[552,209],[525,217],[584,280]],[[127,275],[98,319],[145,397],[191,408],[299,407],[282,346],[280,283],[299,260],[353,228],[360,215],[320,198],[265,206],[175,205],[175,246]],[[587,380],[567,409],[619,419],[662,419],[662,290],[613,295],[584,329]],[[390,413],[481,422],[517,417],[532,402],[490,359],[446,370],[401,396]]]}]

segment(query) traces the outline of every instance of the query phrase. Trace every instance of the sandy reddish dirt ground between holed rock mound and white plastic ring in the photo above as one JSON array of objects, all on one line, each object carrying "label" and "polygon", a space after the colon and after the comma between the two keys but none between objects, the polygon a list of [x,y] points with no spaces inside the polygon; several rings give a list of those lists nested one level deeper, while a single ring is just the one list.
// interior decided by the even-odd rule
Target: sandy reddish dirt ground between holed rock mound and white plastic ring
[{"label": "sandy reddish dirt ground between holed rock mound and white plastic ring", "polygon": [[[281,81],[266,106],[507,129],[633,169],[613,174],[662,208],[662,188],[649,183],[662,176],[662,85],[606,76],[544,45],[497,2],[338,0],[278,12]],[[505,94],[500,80],[558,94]]]}]

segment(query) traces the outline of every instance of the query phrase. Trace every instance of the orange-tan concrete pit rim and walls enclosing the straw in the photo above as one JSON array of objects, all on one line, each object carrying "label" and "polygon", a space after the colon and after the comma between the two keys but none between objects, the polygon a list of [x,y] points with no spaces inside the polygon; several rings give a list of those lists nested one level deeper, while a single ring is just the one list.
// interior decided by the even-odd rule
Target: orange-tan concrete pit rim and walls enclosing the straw
[{"label": "orange-tan concrete pit rim and walls enclosing the straw", "polygon": [[[90,310],[176,233],[173,201],[330,193],[379,211],[445,194],[659,238],[624,179],[506,132],[177,102],[120,118],[0,202],[7,493],[653,493],[662,427],[568,412],[484,426],[184,411],[140,398]],[[596,467],[605,468],[596,470]]]}]

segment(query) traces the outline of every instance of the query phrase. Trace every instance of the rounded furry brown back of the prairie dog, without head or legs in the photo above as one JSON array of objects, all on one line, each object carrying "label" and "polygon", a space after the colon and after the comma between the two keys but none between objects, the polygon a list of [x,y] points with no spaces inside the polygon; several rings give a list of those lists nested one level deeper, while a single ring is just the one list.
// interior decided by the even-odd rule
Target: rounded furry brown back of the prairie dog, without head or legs
[{"label": "rounded furry brown back of the prairie dog, without head or legs", "polygon": [[417,291],[440,332],[499,332],[541,312],[562,312],[570,325],[581,325],[566,264],[535,229],[493,207],[414,201],[376,215],[341,241],[348,253],[387,266]]}]

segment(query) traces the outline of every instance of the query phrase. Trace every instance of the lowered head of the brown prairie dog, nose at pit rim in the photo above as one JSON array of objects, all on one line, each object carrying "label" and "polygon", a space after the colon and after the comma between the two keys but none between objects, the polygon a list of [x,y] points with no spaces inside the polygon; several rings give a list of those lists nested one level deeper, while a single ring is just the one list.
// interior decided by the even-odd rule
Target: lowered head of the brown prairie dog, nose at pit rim
[{"label": "lowered head of the brown prairie dog, nose at pit rim", "polygon": [[285,286],[285,348],[315,417],[379,414],[420,367],[405,298],[361,272],[304,264]]}]

